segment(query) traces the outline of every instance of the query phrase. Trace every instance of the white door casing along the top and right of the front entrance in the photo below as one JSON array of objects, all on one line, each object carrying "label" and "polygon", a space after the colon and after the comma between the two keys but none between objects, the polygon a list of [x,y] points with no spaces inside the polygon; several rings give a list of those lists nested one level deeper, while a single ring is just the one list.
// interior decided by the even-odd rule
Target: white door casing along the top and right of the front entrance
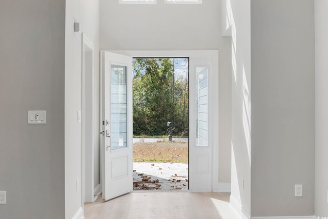
[{"label": "white door casing along the top and right of the front entrance", "polygon": [[[174,58],[174,57],[211,57],[212,60],[212,83],[215,86],[211,86],[209,93],[211,97],[209,99],[211,109],[209,112],[211,113],[211,124],[209,126],[209,130],[212,130],[210,133],[211,136],[211,145],[212,145],[212,191],[219,192],[219,52],[218,50],[154,50],[154,51],[147,51],[147,50],[108,50],[109,52],[118,53],[122,55],[127,55],[131,57],[167,57],[167,58]],[[214,84],[216,82],[217,84]],[[101,86],[101,83],[100,83]],[[102,109],[102,97],[100,94],[100,110]],[[217,112],[217,113],[215,113]],[[101,113],[101,112],[100,112]],[[101,114],[100,114],[101,115]],[[101,123],[101,121],[100,121]],[[213,168],[215,167],[215,168]],[[192,182],[190,182],[192,184]],[[195,191],[191,190],[190,191]]]}]

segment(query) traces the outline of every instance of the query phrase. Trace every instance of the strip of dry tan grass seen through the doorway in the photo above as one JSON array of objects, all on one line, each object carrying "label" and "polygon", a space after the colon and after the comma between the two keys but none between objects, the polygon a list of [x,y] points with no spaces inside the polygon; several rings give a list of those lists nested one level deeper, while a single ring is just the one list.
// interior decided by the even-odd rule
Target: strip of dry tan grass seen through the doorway
[{"label": "strip of dry tan grass seen through the doorway", "polygon": [[152,142],[133,144],[134,162],[179,162],[188,164],[187,142]]}]

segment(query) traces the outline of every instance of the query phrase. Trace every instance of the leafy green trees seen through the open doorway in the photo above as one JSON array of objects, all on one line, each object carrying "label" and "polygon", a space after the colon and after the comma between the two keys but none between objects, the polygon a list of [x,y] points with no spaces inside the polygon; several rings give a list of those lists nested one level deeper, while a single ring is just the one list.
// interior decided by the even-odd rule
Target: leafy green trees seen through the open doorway
[{"label": "leafy green trees seen through the open doorway", "polygon": [[133,134],[187,136],[189,87],[186,75],[174,74],[173,58],[135,58],[133,62]]}]

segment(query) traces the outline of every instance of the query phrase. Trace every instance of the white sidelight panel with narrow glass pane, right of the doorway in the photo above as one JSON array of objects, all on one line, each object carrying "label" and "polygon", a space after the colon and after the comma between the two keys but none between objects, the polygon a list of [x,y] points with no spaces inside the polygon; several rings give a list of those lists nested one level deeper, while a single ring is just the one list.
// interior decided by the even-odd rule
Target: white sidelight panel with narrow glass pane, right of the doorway
[{"label": "white sidelight panel with narrow glass pane, right of the doorway", "polygon": [[190,57],[190,180],[192,191],[212,191],[211,58]]}]

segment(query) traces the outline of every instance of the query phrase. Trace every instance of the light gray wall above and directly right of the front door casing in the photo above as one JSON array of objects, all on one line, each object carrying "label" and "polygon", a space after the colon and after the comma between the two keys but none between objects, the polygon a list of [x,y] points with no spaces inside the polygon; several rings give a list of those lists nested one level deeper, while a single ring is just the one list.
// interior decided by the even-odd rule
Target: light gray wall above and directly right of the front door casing
[{"label": "light gray wall above and directly right of the front door casing", "polygon": [[220,1],[120,5],[100,0],[100,6],[100,50],[219,50],[219,181],[230,183],[231,43],[221,37]]}]

